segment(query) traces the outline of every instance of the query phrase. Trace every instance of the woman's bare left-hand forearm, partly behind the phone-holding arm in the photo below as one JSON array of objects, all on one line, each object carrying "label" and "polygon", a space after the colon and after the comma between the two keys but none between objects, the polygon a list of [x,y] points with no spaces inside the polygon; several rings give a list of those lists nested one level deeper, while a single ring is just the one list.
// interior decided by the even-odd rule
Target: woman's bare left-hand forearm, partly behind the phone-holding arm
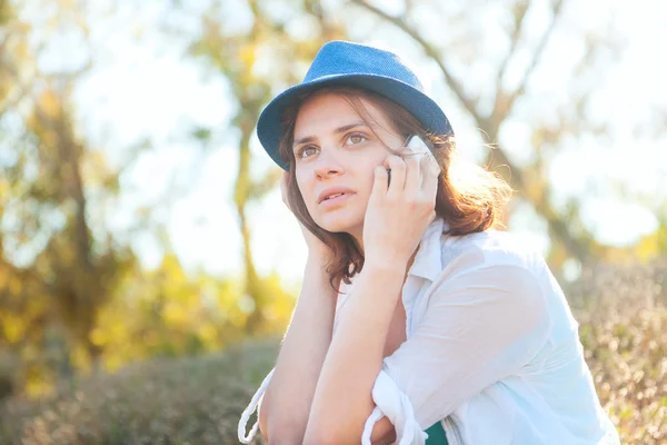
[{"label": "woman's bare left-hand forearm, partly behind the phone-holding arm", "polygon": [[259,427],[271,444],[303,442],[315,388],[331,343],[336,300],[323,264],[309,256],[301,294],[261,404]]}]

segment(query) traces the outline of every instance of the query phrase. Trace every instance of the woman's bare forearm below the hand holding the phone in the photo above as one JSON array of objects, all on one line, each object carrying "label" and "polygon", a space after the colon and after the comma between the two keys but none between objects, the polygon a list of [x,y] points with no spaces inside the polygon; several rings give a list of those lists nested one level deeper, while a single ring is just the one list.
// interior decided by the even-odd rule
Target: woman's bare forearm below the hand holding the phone
[{"label": "woman's bare forearm below the hand holding the phone", "polygon": [[[382,367],[405,268],[400,261],[366,264],[357,278],[321,370],[305,444],[360,441],[375,408],[371,389]],[[395,435],[394,425],[384,418],[376,424],[371,442],[390,443]]]}]

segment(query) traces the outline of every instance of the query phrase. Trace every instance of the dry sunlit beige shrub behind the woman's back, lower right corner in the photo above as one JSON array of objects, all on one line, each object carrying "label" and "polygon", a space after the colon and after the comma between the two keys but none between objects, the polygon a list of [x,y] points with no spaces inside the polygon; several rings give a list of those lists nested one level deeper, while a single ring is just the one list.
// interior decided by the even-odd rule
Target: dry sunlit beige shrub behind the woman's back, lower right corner
[{"label": "dry sunlit beige shrub behind the woman's back, lower right corner", "polygon": [[623,444],[667,442],[667,263],[598,264],[570,289],[603,406]]}]

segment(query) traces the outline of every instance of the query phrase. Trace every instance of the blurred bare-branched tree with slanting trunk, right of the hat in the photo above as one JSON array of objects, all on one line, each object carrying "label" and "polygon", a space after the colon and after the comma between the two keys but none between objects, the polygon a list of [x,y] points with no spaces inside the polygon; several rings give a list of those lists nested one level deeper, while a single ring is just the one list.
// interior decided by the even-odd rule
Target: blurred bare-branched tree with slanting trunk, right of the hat
[{"label": "blurred bare-branched tree with slanting trunk, right of the hat", "polygon": [[[599,123],[589,117],[589,110],[596,99],[596,82],[591,79],[600,71],[600,60],[605,62],[605,71],[613,70],[614,55],[617,56],[621,44],[611,19],[598,20],[601,24],[596,28],[580,26],[577,29],[573,14],[565,18],[573,2],[564,0],[550,0],[546,4],[530,0],[485,1],[466,7],[406,1],[401,13],[389,13],[378,3],[366,0],[351,0],[351,3],[398,28],[436,62],[452,96],[495,146],[485,164],[505,177],[518,191],[519,200],[546,220],[552,240],[549,260],[555,269],[571,257],[586,261],[611,250],[618,253],[618,248],[597,241],[584,224],[579,215],[580,197],[568,197],[565,207],[557,205],[558,197],[547,169],[549,161],[561,151],[564,141],[604,136],[609,130],[610,123]],[[344,7],[338,13],[349,16],[350,10]],[[494,19],[495,22],[489,21]],[[537,21],[541,28],[536,28]],[[440,22],[439,27],[429,26],[434,22]],[[446,29],[447,36],[434,32],[435,29]],[[502,44],[485,44],[484,33],[492,33],[494,42]],[[581,57],[574,58],[575,65],[568,71],[569,89],[559,91],[559,100],[545,102],[531,85],[544,81],[547,63],[571,62],[558,53],[563,47],[551,44],[558,38],[567,38],[570,48],[578,44],[577,53]],[[505,50],[499,51],[499,47]],[[561,67],[558,68],[563,72]],[[480,72],[484,72],[485,83],[475,87],[470,79],[479,79]],[[556,115],[556,119],[531,121],[527,117],[531,112],[530,103],[552,107],[551,115]],[[512,145],[521,141],[507,137],[517,119],[532,126],[528,160],[526,156],[518,159],[515,155],[521,150]],[[628,257],[633,255],[631,247],[625,251]]]}]

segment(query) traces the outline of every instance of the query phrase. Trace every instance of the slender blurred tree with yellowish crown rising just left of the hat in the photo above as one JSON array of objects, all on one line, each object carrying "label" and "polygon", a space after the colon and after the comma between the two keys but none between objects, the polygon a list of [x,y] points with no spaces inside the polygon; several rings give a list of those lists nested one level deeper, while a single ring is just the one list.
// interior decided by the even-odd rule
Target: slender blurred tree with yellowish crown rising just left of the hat
[{"label": "slender blurred tree with yellowish crown rising just left of the hat", "polygon": [[[270,191],[281,176],[272,168],[261,178],[251,176],[250,140],[259,113],[277,89],[299,81],[303,63],[310,61],[321,44],[331,39],[345,38],[342,28],[331,23],[317,1],[290,3],[277,17],[271,7],[277,3],[250,0],[245,6],[251,14],[251,24],[243,31],[228,31],[229,22],[237,17],[226,14],[219,3],[201,16],[202,36],[195,41],[191,53],[226,77],[238,101],[238,111],[231,126],[240,132],[238,144],[239,166],[235,182],[233,202],[243,239],[246,285],[243,293],[252,300],[253,310],[246,325],[248,335],[262,332],[266,308],[276,298],[266,279],[258,276],[250,249],[250,227],[247,207],[252,200]],[[297,38],[293,24],[305,24],[308,36]],[[270,69],[261,69],[270,67]]]}]

